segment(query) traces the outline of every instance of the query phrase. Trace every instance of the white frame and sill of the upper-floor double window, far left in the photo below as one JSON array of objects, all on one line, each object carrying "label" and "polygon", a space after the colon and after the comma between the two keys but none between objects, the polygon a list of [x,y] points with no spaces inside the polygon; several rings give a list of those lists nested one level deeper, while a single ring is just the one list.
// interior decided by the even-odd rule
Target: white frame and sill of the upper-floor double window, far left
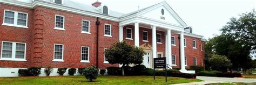
[{"label": "white frame and sill of the upper-floor double window, far left", "polygon": [[[14,24],[4,23],[5,11],[14,12]],[[26,14],[26,26],[18,25],[18,13],[24,13],[24,14]],[[4,9],[4,16],[3,16],[3,23],[2,23],[2,25],[5,25],[5,26],[15,26],[15,27],[22,27],[22,28],[28,29],[28,28],[29,28],[29,27],[28,27],[28,16],[29,16],[29,14],[26,13],[26,12],[19,12],[19,11],[13,11],[13,10]]]}]

